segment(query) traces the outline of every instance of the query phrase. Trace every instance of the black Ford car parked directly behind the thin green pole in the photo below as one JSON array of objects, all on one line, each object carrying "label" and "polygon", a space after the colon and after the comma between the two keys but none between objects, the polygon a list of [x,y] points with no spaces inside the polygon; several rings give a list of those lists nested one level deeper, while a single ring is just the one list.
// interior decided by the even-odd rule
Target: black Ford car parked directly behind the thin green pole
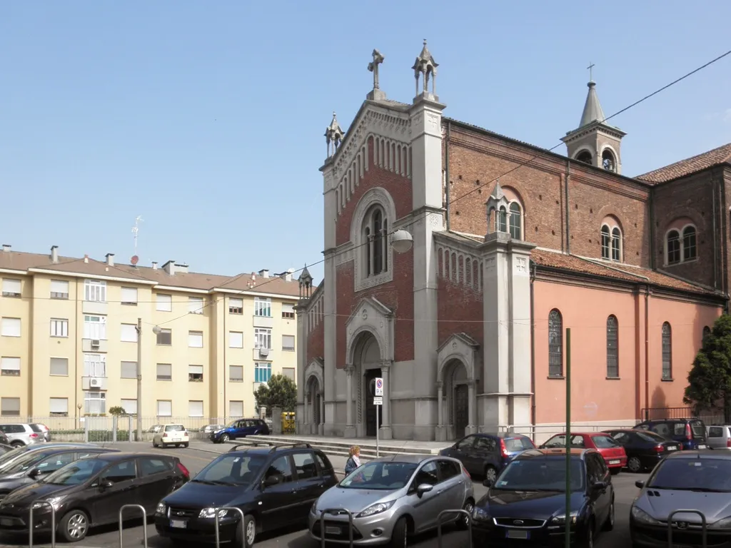
[{"label": "black Ford car parked directly behind the thin green pole", "polygon": [[[614,527],[614,487],[596,449],[570,449],[573,541],[593,546],[599,530]],[[566,528],[566,450],[520,453],[474,505],[474,546],[563,547]]]}]

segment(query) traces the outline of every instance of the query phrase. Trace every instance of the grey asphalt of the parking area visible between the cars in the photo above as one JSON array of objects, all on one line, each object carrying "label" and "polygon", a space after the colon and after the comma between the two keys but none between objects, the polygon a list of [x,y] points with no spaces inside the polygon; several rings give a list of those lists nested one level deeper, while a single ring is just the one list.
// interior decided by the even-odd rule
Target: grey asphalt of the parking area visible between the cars
[{"label": "grey asphalt of the parking area visible between the cars", "polygon": [[[109,444],[123,451],[150,451],[164,454],[178,455],[186,468],[194,475],[202,470],[206,464],[216,457],[216,453],[225,452],[229,446],[213,445],[205,442],[193,442],[188,449],[153,449],[148,444],[121,443]],[[344,457],[330,457],[336,469],[342,469],[345,464]],[[610,533],[604,533],[596,540],[596,548],[616,548],[629,546],[629,506],[637,494],[635,480],[646,479],[645,474],[632,474],[623,472],[613,477],[616,490],[616,525]],[[474,486],[477,497],[485,493],[485,487],[481,482]],[[150,548],[175,548],[175,545],[157,536],[154,525],[147,526],[148,547]],[[124,547],[143,546],[143,529],[141,520],[130,522],[123,532]],[[444,543],[452,548],[468,548],[467,533],[446,529],[444,531]],[[89,536],[83,541],[75,544],[64,544],[58,542],[58,546],[75,548],[118,548],[119,531],[115,525],[106,528],[92,530]],[[279,535],[262,536],[257,539],[257,545],[262,548],[318,548],[317,542],[310,539],[305,529],[283,530]],[[436,535],[426,535],[414,539],[414,546],[419,548],[437,548]],[[23,537],[10,537],[0,535],[0,548],[27,547],[28,540]],[[34,547],[50,548],[50,539],[37,539]]]}]

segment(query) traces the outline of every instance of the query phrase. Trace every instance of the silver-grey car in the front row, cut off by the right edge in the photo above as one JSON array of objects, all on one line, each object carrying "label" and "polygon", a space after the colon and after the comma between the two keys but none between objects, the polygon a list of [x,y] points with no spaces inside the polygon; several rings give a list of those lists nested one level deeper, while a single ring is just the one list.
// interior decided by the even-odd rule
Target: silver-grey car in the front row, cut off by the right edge
[{"label": "silver-grey car in the front row, cut off by the right edge", "polygon": [[697,514],[673,516],[673,546],[724,546],[731,543],[731,453],[678,451],[659,463],[647,482],[635,482],[640,494],[629,511],[632,546],[667,547],[667,520],[679,509],[705,515],[707,543],[701,542]]}]

